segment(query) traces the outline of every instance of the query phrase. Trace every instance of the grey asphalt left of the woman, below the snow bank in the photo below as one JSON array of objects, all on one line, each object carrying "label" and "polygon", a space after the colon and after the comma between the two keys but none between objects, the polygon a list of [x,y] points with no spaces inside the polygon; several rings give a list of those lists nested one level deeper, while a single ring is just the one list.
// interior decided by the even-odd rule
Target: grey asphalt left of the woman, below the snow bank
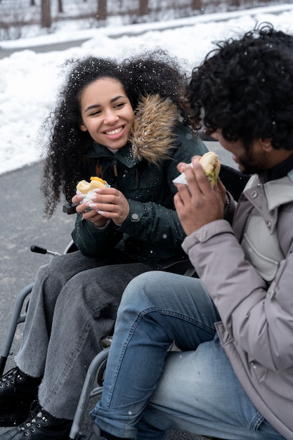
[{"label": "grey asphalt left of the woman, below the snow bank", "polygon": [[64,214],[62,205],[50,220],[43,218],[41,166],[39,162],[0,176],[0,347],[15,297],[51,258],[31,252],[31,245],[62,253],[74,225],[74,216]]}]

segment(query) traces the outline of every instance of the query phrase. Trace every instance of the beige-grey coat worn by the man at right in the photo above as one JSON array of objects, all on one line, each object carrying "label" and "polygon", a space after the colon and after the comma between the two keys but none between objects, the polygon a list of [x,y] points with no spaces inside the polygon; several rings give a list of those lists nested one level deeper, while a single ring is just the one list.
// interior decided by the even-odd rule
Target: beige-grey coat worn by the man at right
[{"label": "beige-grey coat worn by the man at right", "polygon": [[[293,440],[293,172],[254,181],[233,227],[213,221],[183,242],[219,309],[216,328],[254,406]],[[240,245],[241,243],[241,245]]]}]

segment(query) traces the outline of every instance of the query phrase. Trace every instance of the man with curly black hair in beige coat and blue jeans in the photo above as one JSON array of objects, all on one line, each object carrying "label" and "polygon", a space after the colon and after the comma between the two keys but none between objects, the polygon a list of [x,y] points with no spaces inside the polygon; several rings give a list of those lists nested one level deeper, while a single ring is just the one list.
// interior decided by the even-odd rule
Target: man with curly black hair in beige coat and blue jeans
[{"label": "man with curly black hair in beige coat and blue jeans", "polygon": [[84,438],[293,440],[293,36],[263,24],[220,42],[185,105],[253,176],[236,208],[198,156],[178,164],[183,249],[200,279],[148,272],[126,287]]}]

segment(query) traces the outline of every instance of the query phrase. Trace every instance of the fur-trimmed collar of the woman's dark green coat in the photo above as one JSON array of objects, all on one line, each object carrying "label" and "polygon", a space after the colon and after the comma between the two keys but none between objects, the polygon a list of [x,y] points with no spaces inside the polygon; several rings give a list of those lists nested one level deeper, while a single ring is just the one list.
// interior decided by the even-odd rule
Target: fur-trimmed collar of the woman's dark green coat
[{"label": "fur-trimmed collar of the woman's dark green coat", "polygon": [[[157,164],[169,157],[174,147],[174,128],[179,122],[176,105],[169,98],[150,94],[141,98],[135,111],[134,124],[129,142],[119,148],[115,157],[127,167],[134,167],[141,160]],[[93,144],[86,156],[112,156],[104,145]]]}]

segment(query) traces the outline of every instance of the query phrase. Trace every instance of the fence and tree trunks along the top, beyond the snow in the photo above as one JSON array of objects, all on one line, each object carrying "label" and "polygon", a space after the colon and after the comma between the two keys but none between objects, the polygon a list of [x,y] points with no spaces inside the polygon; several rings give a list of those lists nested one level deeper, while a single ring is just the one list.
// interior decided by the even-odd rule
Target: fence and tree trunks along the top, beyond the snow
[{"label": "fence and tree trunks along the top, beyond the snow", "polygon": [[[293,0],[287,1],[293,3]],[[25,37],[30,26],[54,29],[60,20],[86,27],[131,25],[283,4],[281,0],[0,0],[0,40]]]}]

